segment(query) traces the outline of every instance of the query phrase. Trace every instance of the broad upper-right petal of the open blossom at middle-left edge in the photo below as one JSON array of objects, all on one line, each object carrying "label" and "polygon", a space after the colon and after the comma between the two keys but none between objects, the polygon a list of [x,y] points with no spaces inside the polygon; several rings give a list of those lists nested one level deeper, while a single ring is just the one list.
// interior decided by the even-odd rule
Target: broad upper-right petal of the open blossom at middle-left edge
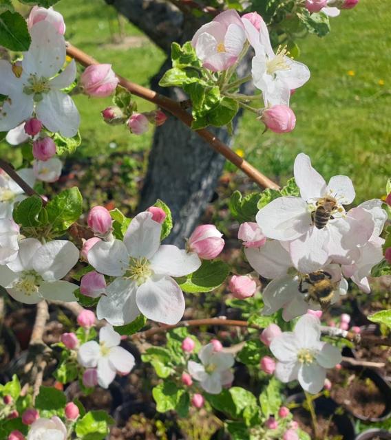
[{"label": "broad upper-right petal of the open blossom at middle-left edge", "polygon": [[53,240],[36,250],[32,265],[45,281],[57,281],[78,262],[78,248],[71,241]]}]

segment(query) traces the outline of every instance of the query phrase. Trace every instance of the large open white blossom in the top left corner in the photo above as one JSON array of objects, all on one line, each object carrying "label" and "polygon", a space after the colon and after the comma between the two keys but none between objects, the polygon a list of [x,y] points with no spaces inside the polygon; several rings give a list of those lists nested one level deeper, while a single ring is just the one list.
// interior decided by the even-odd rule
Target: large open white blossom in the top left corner
[{"label": "large open white blossom in the top left corner", "polygon": [[80,116],[72,98],[61,89],[73,83],[76,64],[72,60],[58,75],[65,63],[65,40],[47,21],[36,23],[30,34],[32,43],[23,52],[20,77],[8,61],[0,60],[0,94],[8,96],[0,111],[0,131],[14,129],[35,111],[48,130],[72,137]]}]

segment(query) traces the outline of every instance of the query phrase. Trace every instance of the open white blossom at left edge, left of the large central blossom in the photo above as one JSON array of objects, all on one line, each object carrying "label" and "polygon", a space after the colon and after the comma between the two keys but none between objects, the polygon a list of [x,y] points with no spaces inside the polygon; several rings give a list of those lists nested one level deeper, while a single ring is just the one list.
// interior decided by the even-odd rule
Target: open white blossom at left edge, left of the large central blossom
[{"label": "open white blossom at left edge, left of the large central blossom", "polygon": [[17,258],[0,266],[0,285],[25,304],[43,299],[75,301],[77,286],[60,280],[77,261],[78,250],[70,241],[54,240],[43,245],[36,239],[23,239]]}]

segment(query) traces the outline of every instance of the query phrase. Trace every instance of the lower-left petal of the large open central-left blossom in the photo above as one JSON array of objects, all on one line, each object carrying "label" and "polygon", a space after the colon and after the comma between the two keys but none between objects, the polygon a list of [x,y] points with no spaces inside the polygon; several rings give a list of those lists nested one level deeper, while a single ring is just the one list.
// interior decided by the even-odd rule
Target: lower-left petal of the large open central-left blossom
[{"label": "lower-left petal of the large open central-left blossom", "polygon": [[101,296],[96,314],[112,325],[125,325],[134,321],[140,310],[136,304],[137,285],[125,278],[116,278]]}]

